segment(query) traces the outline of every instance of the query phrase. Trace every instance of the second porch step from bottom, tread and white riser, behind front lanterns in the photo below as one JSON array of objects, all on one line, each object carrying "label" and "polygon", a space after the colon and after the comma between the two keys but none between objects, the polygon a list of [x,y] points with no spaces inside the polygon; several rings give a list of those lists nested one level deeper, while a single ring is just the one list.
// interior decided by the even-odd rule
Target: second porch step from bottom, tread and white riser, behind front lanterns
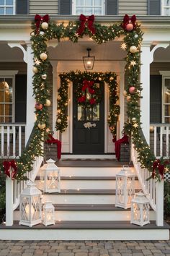
[{"label": "second porch step from bottom, tread and white riser, behind front lanterns", "polygon": [[[130,221],[130,209],[117,208],[115,205],[67,205],[55,206],[55,221]],[[14,212],[19,221],[19,209]],[[151,221],[156,220],[153,210]]]}]

